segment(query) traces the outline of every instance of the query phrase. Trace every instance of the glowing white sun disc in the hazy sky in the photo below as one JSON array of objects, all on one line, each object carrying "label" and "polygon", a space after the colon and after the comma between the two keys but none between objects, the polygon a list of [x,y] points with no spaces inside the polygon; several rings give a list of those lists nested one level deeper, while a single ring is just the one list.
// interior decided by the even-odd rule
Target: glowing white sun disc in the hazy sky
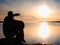
[{"label": "glowing white sun disc in the hazy sky", "polygon": [[52,10],[47,5],[43,5],[38,8],[37,13],[42,17],[47,17],[49,14],[52,13]]}]

